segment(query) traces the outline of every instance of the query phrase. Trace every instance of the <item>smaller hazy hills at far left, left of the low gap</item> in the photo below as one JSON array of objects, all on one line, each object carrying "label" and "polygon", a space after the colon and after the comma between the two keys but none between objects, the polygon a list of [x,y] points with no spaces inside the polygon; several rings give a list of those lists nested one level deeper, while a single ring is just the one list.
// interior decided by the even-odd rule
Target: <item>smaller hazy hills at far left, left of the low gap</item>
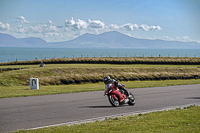
[{"label": "smaller hazy hills at far left, left of the low gap", "polygon": [[44,44],[47,44],[47,42],[41,38],[18,39],[11,35],[0,33],[0,47],[44,47]]}]

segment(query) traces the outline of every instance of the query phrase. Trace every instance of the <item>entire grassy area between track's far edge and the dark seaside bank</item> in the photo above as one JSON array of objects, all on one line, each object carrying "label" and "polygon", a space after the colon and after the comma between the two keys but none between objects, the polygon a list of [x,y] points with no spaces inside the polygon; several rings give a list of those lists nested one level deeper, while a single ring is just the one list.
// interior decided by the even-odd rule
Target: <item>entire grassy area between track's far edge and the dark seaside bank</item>
[{"label": "entire grassy area between track's far edge and the dark seaside bank", "polygon": [[[0,68],[17,68],[21,65],[0,66]],[[34,95],[61,94],[104,90],[102,82],[92,84],[85,81],[102,80],[104,76],[115,79],[131,79],[124,82],[127,88],[200,84],[200,79],[192,80],[157,80],[159,77],[199,76],[199,65],[145,65],[145,64],[47,64],[25,65],[26,69],[0,72],[0,98]],[[30,78],[39,78],[40,89],[30,90]],[[80,81],[80,84],[65,85],[67,81]],[[85,84],[84,84],[85,82]],[[123,82],[120,82],[123,83]]]}]

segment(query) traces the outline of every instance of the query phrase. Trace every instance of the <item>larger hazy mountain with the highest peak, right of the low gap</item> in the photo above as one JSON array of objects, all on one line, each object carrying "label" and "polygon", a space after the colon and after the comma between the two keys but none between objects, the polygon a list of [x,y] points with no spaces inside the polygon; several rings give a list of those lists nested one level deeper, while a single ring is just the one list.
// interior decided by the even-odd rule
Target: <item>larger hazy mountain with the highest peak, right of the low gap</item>
[{"label": "larger hazy mountain with the highest peak, right of the low gap", "polygon": [[65,48],[200,49],[200,44],[196,42],[138,39],[117,31],[105,32],[99,35],[87,33],[74,40],[49,43],[48,45]]}]

